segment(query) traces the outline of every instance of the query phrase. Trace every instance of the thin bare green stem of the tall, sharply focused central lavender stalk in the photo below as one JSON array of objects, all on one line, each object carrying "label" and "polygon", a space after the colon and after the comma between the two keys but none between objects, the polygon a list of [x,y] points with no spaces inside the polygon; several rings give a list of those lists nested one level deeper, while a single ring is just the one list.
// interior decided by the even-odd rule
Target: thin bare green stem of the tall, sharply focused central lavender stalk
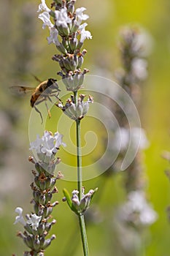
[{"label": "thin bare green stem of the tall, sharply focused central lavender stalk", "polygon": [[[77,91],[74,91],[74,103],[77,105]],[[76,120],[76,135],[77,135],[77,189],[79,191],[79,200],[82,199],[82,151],[81,151],[81,133],[80,120]],[[82,247],[84,256],[88,256],[88,238],[85,229],[85,218],[82,214],[79,215],[80,231],[82,237]]]}]

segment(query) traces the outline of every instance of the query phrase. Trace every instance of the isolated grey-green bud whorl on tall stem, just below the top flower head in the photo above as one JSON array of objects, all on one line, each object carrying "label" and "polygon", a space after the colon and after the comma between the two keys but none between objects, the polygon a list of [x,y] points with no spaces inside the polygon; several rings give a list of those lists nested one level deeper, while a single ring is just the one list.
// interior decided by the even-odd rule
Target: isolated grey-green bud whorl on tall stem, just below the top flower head
[{"label": "isolated grey-green bud whorl on tall stem, just below the top flower head", "polygon": [[88,100],[84,102],[83,99],[85,96],[85,94],[80,94],[77,102],[75,102],[74,96],[71,95],[71,99],[67,99],[66,105],[63,105],[61,102],[58,102],[56,105],[69,118],[81,120],[88,113],[89,103],[93,103],[93,97],[91,95],[88,95]]}]

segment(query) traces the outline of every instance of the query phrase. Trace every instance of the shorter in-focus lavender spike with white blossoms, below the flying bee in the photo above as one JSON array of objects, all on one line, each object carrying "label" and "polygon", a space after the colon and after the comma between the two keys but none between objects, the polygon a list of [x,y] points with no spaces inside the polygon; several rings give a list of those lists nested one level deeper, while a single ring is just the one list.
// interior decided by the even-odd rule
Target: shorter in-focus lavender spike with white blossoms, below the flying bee
[{"label": "shorter in-focus lavender spike with white blossoms, below the flying bee", "polygon": [[[34,213],[26,214],[26,219],[23,218],[23,209],[18,207],[15,212],[18,216],[15,218],[15,224],[20,222],[25,231],[19,232],[18,236],[23,238],[23,241],[31,249],[29,252],[24,252],[24,255],[44,255],[44,251],[55,235],[51,238],[46,238],[52,225],[55,224],[55,219],[50,221],[53,207],[58,205],[58,201],[51,202],[53,195],[58,192],[55,187],[55,182],[62,178],[61,172],[54,176],[55,165],[59,160],[55,159],[55,154],[61,146],[62,135],[55,132],[45,131],[42,138],[37,136],[34,143],[31,143],[31,149],[36,149],[36,154],[39,160],[36,161],[33,157],[29,157],[29,162],[34,164],[35,170],[32,170],[34,182],[31,184],[33,199],[31,203],[34,205]],[[49,172],[50,171],[50,172]]]}]

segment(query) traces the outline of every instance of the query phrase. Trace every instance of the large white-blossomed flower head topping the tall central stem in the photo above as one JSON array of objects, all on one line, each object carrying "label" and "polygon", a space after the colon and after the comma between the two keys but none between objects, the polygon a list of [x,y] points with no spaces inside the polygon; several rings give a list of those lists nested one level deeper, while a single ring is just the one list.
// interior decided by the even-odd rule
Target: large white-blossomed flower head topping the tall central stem
[{"label": "large white-blossomed flower head topping the tall central stem", "polygon": [[50,10],[42,0],[37,12],[39,19],[42,20],[42,29],[47,26],[50,30],[50,36],[47,37],[49,44],[55,44],[61,54],[53,56],[54,61],[58,61],[61,67],[63,83],[68,91],[77,91],[82,87],[84,75],[88,70],[81,72],[81,66],[87,50],[80,52],[85,39],[91,39],[90,31],[85,28],[88,23],[82,23],[88,20],[89,16],[84,14],[85,7],[74,9],[75,0],[55,0],[51,4]]}]

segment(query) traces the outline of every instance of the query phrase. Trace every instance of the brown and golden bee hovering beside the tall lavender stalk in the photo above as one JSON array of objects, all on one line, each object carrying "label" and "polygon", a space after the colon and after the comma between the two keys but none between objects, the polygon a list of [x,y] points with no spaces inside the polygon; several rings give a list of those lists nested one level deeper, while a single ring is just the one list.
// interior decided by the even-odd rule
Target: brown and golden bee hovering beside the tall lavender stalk
[{"label": "brown and golden bee hovering beside the tall lavender stalk", "polygon": [[48,116],[51,117],[50,110],[47,106],[46,101],[47,99],[49,99],[50,102],[52,102],[50,97],[55,97],[58,100],[60,100],[58,98],[58,94],[59,94],[59,91],[61,90],[58,89],[58,84],[56,83],[57,80],[53,78],[48,78],[43,82],[40,81],[38,78],[36,78],[36,80],[40,82],[39,85],[36,87],[12,86],[10,87],[10,90],[13,91],[15,94],[20,94],[20,95],[28,94],[29,92],[31,92],[31,99],[30,99],[31,108],[34,108],[36,112],[39,113],[43,123],[42,113],[39,111],[36,105],[39,105],[39,103],[41,102],[45,102]]}]

